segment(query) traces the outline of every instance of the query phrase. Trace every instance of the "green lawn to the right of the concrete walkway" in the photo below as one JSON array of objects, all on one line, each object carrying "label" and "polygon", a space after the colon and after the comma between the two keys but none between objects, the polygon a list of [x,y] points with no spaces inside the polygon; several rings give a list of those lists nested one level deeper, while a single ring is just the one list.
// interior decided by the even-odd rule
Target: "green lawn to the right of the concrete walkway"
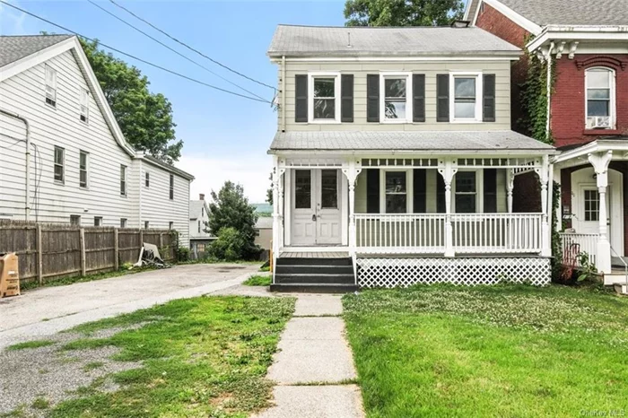
[{"label": "green lawn to the right of the concrete walkway", "polygon": [[628,299],[421,286],[344,305],[369,417],[628,414]]}]

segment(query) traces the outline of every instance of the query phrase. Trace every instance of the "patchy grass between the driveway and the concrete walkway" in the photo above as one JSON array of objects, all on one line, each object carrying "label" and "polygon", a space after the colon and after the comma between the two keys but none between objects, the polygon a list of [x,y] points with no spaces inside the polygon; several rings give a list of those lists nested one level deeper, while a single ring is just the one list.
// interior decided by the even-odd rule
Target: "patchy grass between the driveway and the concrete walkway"
[{"label": "patchy grass between the driveway and the concrete walkway", "polygon": [[89,334],[145,323],[109,338],[85,338],[65,346],[114,345],[120,351],[113,360],[141,361],[143,367],[108,375],[120,385],[117,391],[77,390],[76,398],[48,414],[249,416],[268,404],[272,383],[266,370],[293,310],[294,300],[288,298],[200,297],[76,327],[73,331]]}]

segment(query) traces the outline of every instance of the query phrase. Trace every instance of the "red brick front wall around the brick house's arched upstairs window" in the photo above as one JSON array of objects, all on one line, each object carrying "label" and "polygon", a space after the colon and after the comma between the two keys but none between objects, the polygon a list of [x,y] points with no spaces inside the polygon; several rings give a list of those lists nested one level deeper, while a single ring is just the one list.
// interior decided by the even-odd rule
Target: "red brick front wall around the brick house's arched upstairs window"
[{"label": "red brick front wall around the brick house's arched upstairs window", "polygon": [[[600,57],[611,57],[626,63],[624,70],[621,65],[615,65],[612,60],[599,60]],[[578,62],[589,58],[598,58],[581,68]],[[556,83],[552,95],[552,134],[555,145],[584,144],[597,139],[597,135],[623,134],[628,135],[628,54],[624,55],[576,55],[569,59],[565,55],[557,59]],[[584,74],[587,68],[606,66],[615,70],[615,104],[617,115],[617,130],[585,130],[585,81]],[[595,134],[595,135],[591,135]]]}]

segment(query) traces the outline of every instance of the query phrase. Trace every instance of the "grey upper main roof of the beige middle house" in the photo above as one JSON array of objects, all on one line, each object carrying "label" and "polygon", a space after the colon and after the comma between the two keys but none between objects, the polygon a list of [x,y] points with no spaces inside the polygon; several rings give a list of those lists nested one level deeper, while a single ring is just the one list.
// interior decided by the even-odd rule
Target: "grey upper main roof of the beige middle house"
[{"label": "grey upper main roof of the beige middle house", "polygon": [[478,53],[512,55],[519,51],[480,28],[279,25],[268,48],[268,56],[473,56]]}]

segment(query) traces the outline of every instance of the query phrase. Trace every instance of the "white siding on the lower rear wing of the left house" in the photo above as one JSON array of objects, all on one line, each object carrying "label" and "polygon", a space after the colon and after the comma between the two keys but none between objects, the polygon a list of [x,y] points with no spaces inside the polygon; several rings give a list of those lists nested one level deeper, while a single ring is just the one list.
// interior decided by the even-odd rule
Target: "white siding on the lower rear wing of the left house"
[{"label": "white siding on the lower rear wing of the left house", "polygon": [[[189,180],[174,174],[174,199],[170,200],[170,171],[148,161],[141,161],[140,193],[141,225],[149,222],[150,228],[168,229],[174,222],[179,231],[179,245],[189,247]],[[150,185],[144,183],[145,172],[150,172]]]}]

